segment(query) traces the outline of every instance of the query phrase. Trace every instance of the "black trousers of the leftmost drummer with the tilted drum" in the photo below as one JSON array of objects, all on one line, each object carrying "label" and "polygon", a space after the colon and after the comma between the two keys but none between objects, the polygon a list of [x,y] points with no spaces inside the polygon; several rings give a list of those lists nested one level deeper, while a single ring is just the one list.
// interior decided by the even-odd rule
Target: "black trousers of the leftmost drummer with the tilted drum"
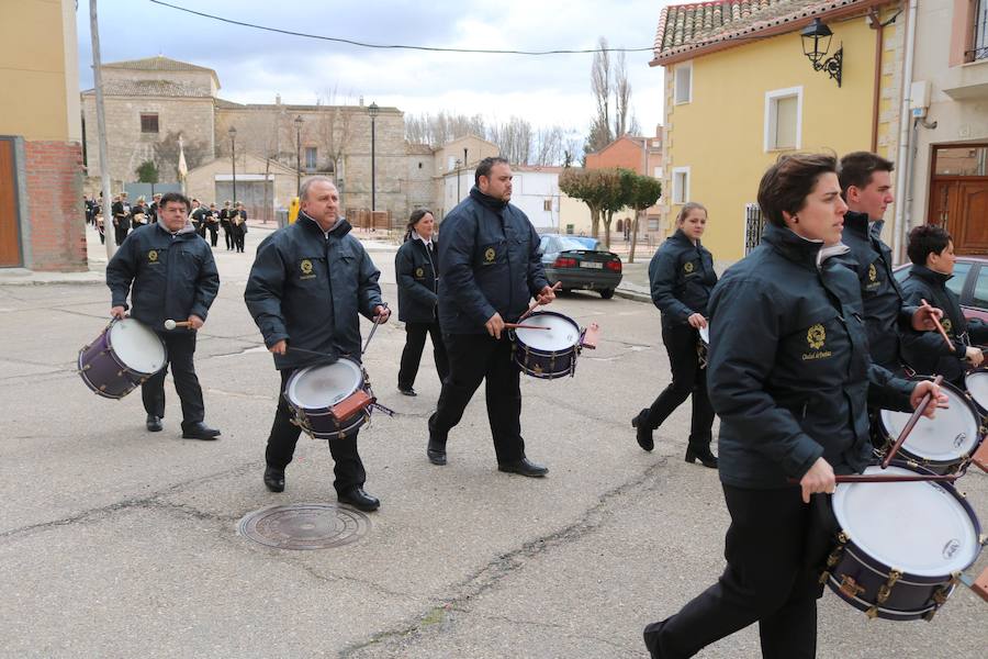
[{"label": "black trousers of the leftmost drummer with the tilted drum", "polygon": [[[199,423],[205,418],[205,407],[202,402],[202,388],[195,376],[195,333],[170,332],[158,333],[168,349],[168,362],[171,365],[171,375],[175,377],[175,390],[182,403],[182,427]],[[141,398],[144,400],[144,409],[154,416],[165,416],[165,376],[168,373],[168,365],[155,373],[141,386]]]}]

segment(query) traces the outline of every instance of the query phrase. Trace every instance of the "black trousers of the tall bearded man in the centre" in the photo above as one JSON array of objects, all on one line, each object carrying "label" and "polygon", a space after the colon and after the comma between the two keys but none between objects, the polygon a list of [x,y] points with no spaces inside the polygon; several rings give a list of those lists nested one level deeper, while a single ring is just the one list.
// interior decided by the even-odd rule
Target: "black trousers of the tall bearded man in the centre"
[{"label": "black trousers of the tall bearded man in the centre", "polygon": [[525,457],[520,370],[512,359],[507,332],[499,339],[487,334],[446,334],[444,339],[449,355],[449,377],[442,382],[439,404],[429,418],[429,437],[446,443],[481,380],[486,379],[487,421],[497,461],[520,460]]}]

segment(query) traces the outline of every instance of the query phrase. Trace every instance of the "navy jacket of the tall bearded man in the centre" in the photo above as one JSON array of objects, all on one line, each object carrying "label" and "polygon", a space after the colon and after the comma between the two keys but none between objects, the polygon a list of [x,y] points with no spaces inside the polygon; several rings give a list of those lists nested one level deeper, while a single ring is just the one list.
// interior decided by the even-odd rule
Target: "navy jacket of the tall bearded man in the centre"
[{"label": "navy jacket of the tall bearded man in the centre", "polygon": [[516,206],[474,186],[442,221],[439,324],[447,334],[483,334],[494,313],[518,320],[549,286],[539,236]]}]

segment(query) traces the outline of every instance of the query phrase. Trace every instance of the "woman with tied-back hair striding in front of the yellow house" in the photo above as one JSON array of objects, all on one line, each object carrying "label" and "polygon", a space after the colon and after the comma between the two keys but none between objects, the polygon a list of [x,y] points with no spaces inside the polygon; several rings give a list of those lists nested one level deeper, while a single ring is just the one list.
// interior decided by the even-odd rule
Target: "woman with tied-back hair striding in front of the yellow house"
[{"label": "woman with tied-back hair striding in front of the yellow house", "polygon": [[693,422],[686,461],[699,460],[704,467],[717,468],[710,453],[714,436],[714,407],[707,396],[706,369],[701,366],[698,331],[707,326],[707,300],[717,283],[714,256],[700,244],[707,226],[707,209],[691,201],[676,217],[676,233],[655,252],[649,264],[652,302],[662,312],[662,343],[669,353],[672,382],[659,394],[651,407],[631,420],[638,445],[654,448],[652,432],[693,394]]}]

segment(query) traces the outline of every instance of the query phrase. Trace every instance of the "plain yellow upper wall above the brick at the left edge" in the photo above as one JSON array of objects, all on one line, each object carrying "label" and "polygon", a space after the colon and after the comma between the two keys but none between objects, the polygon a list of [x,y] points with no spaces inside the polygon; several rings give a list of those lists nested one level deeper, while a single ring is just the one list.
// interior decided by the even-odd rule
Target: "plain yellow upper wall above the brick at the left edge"
[{"label": "plain yellow upper wall above the brick at the left edge", "polygon": [[72,0],[0,2],[0,134],[81,142]]}]

